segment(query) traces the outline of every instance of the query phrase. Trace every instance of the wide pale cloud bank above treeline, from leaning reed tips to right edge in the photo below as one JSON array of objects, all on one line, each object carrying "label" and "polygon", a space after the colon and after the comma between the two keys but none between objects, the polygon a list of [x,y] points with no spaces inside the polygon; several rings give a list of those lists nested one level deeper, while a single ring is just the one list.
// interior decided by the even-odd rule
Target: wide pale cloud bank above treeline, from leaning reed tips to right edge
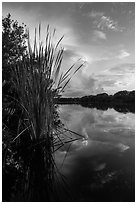
[{"label": "wide pale cloud bank above treeline, from leaning reed tips to right edge", "polygon": [[123,63],[96,75],[85,75],[82,70],[72,79],[64,96],[81,97],[107,92],[114,94],[120,90],[133,90],[135,82],[135,64]]}]

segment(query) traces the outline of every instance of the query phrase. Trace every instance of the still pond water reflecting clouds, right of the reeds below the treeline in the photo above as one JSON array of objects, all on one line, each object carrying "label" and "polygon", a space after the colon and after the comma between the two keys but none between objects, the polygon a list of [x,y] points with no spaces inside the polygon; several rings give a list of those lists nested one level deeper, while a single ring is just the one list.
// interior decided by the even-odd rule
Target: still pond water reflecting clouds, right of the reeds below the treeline
[{"label": "still pond water reflecting clouds, right of the reeds below the treeline", "polygon": [[56,153],[61,201],[133,202],[135,115],[80,105],[60,105],[59,114],[65,127],[84,136]]}]

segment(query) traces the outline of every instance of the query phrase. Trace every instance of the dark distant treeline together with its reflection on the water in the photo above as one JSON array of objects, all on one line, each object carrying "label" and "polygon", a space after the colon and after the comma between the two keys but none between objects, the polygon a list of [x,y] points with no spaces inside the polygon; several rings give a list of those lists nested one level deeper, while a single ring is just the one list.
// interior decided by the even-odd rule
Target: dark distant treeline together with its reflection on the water
[{"label": "dark distant treeline together with its reflection on the water", "polygon": [[58,104],[80,104],[84,107],[107,110],[114,108],[118,112],[135,113],[135,91],[119,91],[114,95],[107,93],[89,95],[81,98],[59,98]]}]

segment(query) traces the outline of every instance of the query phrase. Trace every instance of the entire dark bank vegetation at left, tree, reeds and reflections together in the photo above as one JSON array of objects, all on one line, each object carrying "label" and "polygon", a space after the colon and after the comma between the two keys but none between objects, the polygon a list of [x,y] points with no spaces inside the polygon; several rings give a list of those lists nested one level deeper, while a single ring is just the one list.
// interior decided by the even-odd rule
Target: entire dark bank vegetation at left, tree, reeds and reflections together
[{"label": "entire dark bank vegetation at left, tree, reeds and reflections together", "polygon": [[60,73],[63,37],[53,43],[54,35],[47,26],[43,44],[39,25],[31,45],[24,24],[2,19],[3,201],[57,201],[57,176],[64,180],[54,154],[79,139],[66,137],[55,98],[83,64]]}]

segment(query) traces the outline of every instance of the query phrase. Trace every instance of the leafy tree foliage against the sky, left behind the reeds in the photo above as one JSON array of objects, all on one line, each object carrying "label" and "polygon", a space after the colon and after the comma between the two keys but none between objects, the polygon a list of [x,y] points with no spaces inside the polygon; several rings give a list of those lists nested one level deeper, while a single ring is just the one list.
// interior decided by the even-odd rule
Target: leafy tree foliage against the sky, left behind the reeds
[{"label": "leafy tree foliage against the sky, left behind the reeds", "polygon": [[10,80],[10,65],[17,62],[26,51],[25,25],[19,25],[8,14],[2,19],[2,71],[3,81]]}]

